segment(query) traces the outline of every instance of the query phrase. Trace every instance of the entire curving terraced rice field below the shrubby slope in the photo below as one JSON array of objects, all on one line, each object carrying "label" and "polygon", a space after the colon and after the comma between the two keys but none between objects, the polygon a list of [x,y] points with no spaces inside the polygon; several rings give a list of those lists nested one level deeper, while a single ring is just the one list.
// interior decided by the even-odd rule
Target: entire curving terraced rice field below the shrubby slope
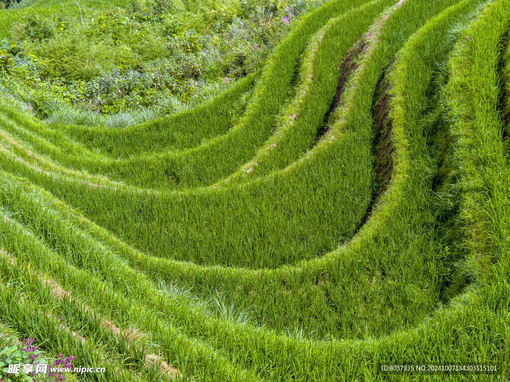
[{"label": "entire curving terraced rice field below the shrubby slope", "polygon": [[249,96],[125,131],[3,101],[3,319],[104,380],[160,380],[150,353],[204,381],[504,380],[509,22],[508,0],[330,2]]}]

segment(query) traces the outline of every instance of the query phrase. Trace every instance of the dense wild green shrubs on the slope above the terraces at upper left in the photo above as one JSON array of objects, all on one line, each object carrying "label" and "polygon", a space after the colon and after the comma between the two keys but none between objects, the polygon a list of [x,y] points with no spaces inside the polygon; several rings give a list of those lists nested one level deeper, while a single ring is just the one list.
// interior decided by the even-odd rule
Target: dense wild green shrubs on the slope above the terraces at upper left
[{"label": "dense wild green shrubs on the slope above the terraces at upper left", "polygon": [[[54,103],[52,97],[103,114],[154,107],[169,95],[188,102],[200,92],[200,83],[227,84],[261,70],[269,51],[256,42],[258,21],[237,22],[235,34],[252,31],[239,41],[228,26],[238,17],[235,9],[214,7],[206,12],[208,23],[222,24],[230,40],[197,33],[188,20],[171,13],[171,2],[162,0],[88,11],[84,23],[65,13],[45,17],[27,12],[24,22],[12,27],[14,47],[11,56],[2,56],[2,68],[25,89],[39,93],[32,98],[40,116],[48,115],[43,109]],[[274,25],[262,33],[271,44]]]}]

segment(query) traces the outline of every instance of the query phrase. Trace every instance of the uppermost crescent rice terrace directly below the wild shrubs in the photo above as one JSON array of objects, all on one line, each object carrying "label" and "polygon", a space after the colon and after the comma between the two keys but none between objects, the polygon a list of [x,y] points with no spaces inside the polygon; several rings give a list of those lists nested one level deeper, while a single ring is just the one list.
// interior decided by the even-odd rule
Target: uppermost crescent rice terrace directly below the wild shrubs
[{"label": "uppermost crescent rice terrace directly below the wild shrubs", "polygon": [[252,86],[250,75],[193,110],[124,129],[46,125],[5,101],[0,106],[0,118],[5,130],[24,146],[53,158],[65,152],[65,163],[71,167],[84,157],[95,161],[134,157],[134,162],[147,152],[161,157],[167,151],[191,148],[224,134],[242,113]]}]

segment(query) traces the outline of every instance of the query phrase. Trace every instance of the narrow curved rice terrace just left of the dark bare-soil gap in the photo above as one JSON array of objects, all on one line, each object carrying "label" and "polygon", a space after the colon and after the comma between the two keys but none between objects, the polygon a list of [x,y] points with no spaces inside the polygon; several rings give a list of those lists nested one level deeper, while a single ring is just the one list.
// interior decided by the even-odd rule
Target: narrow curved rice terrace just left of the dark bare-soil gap
[{"label": "narrow curved rice terrace just left of the dark bare-soil gap", "polygon": [[304,53],[304,70],[300,73],[301,83],[295,99],[286,108],[281,123],[250,161],[220,184],[261,177],[284,169],[313,147],[338,85],[339,58],[345,56],[344,52],[368,28],[380,12],[380,6],[385,4],[366,4],[363,12],[351,10],[330,20],[316,33]]}]

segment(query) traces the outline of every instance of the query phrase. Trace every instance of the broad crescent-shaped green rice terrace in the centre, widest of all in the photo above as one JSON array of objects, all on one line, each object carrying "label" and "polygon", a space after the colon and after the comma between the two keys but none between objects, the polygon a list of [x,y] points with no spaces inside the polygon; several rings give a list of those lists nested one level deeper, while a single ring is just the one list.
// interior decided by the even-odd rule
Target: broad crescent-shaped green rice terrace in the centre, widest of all
[{"label": "broad crescent-shaped green rice terrace in the centre, widest of all", "polygon": [[[126,217],[131,215],[131,219],[134,219],[131,222],[126,219],[109,220],[115,225],[129,225],[131,232],[126,233],[131,235],[131,238],[126,237],[127,240],[143,239],[144,242],[139,243],[138,247],[150,251],[155,256],[225,264],[224,254],[232,253],[226,264],[252,268],[274,267],[301,258],[313,258],[333,249],[336,243],[350,237],[366,210],[370,197],[370,157],[353,157],[348,151],[344,152],[343,157],[339,157],[335,149],[335,146],[339,145],[354,147],[356,142],[353,138],[347,136],[345,140],[326,143],[329,146],[328,150],[316,150],[318,158],[324,157],[322,160],[300,161],[293,166],[292,171],[274,174],[270,179],[250,183],[243,188],[225,187],[220,190],[206,189],[201,192],[166,195],[148,194],[143,191],[134,194],[134,190],[128,187],[119,188],[112,193],[112,189],[106,187],[104,199],[94,202],[95,207],[87,205],[81,207],[99,208],[103,212],[110,211]],[[328,159],[331,155],[336,156],[334,161]],[[366,166],[359,167],[360,160],[364,160]],[[336,171],[331,167],[334,163],[338,169]],[[21,161],[12,157],[5,166],[20,165],[24,169],[22,171],[33,172],[31,167],[23,166]],[[316,170],[300,171],[301,168],[310,165]],[[335,177],[324,178],[322,175],[324,173]],[[59,188],[65,184],[60,179],[61,175],[59,178],[50,176],[45,180],[43,180],[47,177],[45,173],[34,175],[41,176],[43,182],[56,182]],[[315,176],[316,180],[310,178],[311,176]],[[341,186],[342,179],[347,176],[351,178],[353,186],[360,189],[359,192],[352,193],[352,189],[345,188],[345,185]],[[299,181],[299,178],[304,180]],[[295,183],[290,183],[289,179],[295,180]],[[309,183],[316,184],[316,190],[311,189]],[[300,188],[296,187],[297,184],[300,184]],[[77,201],[84,195],[83,192],[88,193],[89,185],[82,182],[73,181],[64,185],[67,186],[77,188],[68,194],[77,198]],[[61,190],[63,191],[63,188]],[[282,194],[287,194],[285,199],[267,197]],[[119,198],[120,195],[124,196]],[[304,195],[308,195],[309,199],[304,208],[293,205],[292,200]],[[133,200],[133,203],[126,205],[122,201],[125,197]],[[183,197],[189,198],[189,202],[181,203]],[[327,203],[323,204],[325,198],[344,202],[336,209],[331,209]],[[107,205],[109,206],[106,207]],[[126,206],[129,209],[125,209]],[[359,212],[353,215],[351,220],[344,219],[347,211],[352,210]],[[141,211],[145,211],[145,217]],[[289,216],[293,216],[290,221]],[[140,218],[144,221],[140,222]],[[98,219],[101,217],[98,216]],[[196,221],[197,219],[199,220]],[[323,223],[321,219],[324,220]],[[154,224],[155,221],[161,221],[162,226]],[[183,227],[191,229],[186,228],[179,236],[170,237],[168,231],[161,231],[161,227],[175,225],[177,221],[182,221],[180,224]],[[253,224],[260,227],[256,236],[252,232]],[[206,229],[209,237],[203,240],[202,235],[205,233],[203,229],[206,227],[209,227]],[[118,232],[124,230],[121,226],[108,228]],[[140,229],[142,231],[139,231]],[[237,233],[234,234],[235,232]],[[283,237],[282,233],[285,234]],[[186,250],[182,251],[184,248]],[[265,255],[260,256],[261,253]]]}]

